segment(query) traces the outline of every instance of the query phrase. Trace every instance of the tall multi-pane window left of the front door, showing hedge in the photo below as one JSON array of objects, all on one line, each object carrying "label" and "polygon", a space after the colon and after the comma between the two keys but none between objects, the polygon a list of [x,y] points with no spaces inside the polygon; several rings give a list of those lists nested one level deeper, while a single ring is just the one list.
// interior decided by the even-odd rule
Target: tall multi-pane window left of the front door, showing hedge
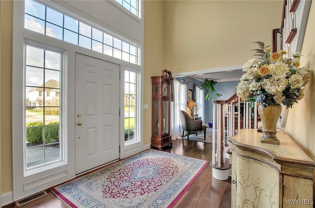
[{"label": "tall multi-pane window left of the front door, showing hedge", "polygon": [[62,52],[25,48],[25,172],[62,160]]}]

